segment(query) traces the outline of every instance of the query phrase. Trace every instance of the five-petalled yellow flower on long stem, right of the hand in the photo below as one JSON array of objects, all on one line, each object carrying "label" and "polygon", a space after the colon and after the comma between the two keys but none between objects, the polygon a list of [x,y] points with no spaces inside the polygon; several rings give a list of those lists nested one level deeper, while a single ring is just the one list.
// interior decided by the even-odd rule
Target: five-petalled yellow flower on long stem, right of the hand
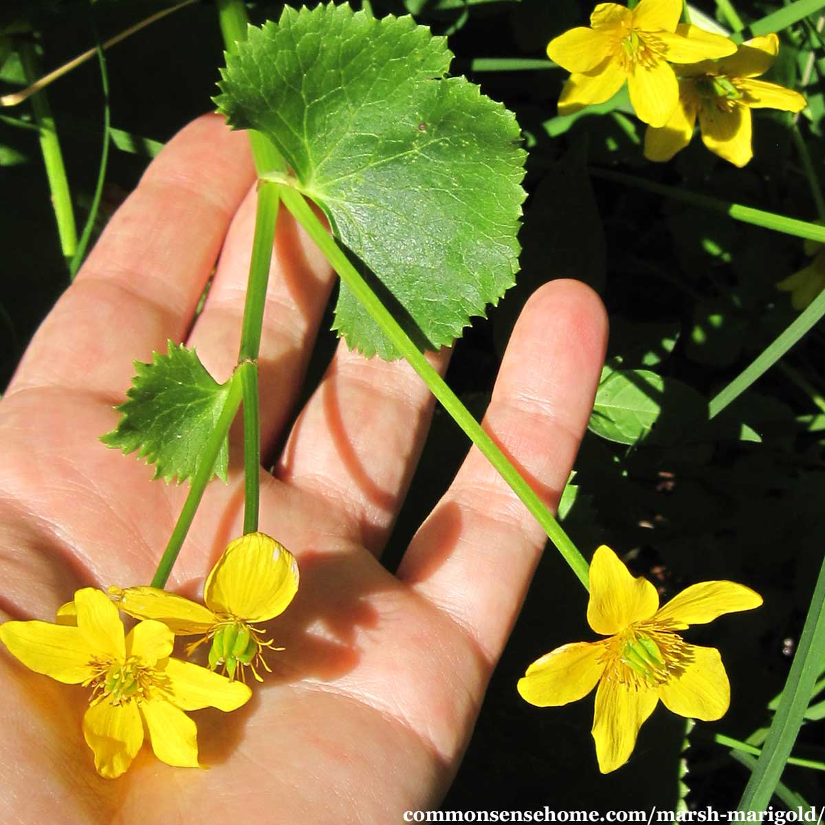
[{"label": "five-petalled yellow flower on long stem, right of the hand", "polygon": [[598,682],[592,734],[599,769],[610,773],[628,761],[639,728],[658,700],[693,719],[724,715],[730,686],[719,651],[688,644],[676,631],[761,603],[761,596],[741,584],[701,582],[660,610],[656,588],[632,577],[602,545],[590,567],[587,622],[609,638],[547,653],[527,668],[518,691],[531,705],[567,705]]}]

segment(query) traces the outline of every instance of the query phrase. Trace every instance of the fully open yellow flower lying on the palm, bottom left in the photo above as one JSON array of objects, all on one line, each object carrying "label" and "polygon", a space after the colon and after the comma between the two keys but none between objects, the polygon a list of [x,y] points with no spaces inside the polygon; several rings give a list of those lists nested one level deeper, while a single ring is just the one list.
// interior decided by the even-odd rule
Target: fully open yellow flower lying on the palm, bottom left
[{"label": "fully open yellow flower lying on the palm, bottom left", "polygon": [[7,621],[0,640],[26,667],[67,685],[92,688],[83,735],[101,776],[128,770],[144,742],[167,765],[198,767],[197,728],[183,712],[239,708],[252,695],[245,685],[190,662],[169,658],[174,636],[157,621],[143,621],[127,636],[105,593],[74,594],[76,625]]}]

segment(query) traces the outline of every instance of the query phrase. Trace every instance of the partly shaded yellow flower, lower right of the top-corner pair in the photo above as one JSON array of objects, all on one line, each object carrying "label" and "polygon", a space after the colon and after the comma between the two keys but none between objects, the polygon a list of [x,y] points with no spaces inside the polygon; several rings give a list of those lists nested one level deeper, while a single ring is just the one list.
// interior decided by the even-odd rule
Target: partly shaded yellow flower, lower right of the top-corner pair
[{"label": "partly shaded yellow flower, lower right of the top-corner pair", "polygon": [[644,157],[670,160],[691,142],[698,115],[705,146],[735,166],[744,166],[753,157],[752,109],[800,111],[806,105],[799,92],[754,79],[771,67],[777,54],[779,38],[766,35],[748,40],[736,54],[716,63],[677,68],[679,105],[661,129],[648,127]]}]

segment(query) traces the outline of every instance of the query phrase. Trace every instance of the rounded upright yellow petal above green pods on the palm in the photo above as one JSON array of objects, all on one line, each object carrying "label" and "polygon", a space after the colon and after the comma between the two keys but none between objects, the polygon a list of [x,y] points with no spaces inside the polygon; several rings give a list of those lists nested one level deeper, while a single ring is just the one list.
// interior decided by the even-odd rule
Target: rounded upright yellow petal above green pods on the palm
[{"label": "rounded upright yellow petal above green pods on the palm", "polygon": [[298,592],[295,557],[264,533],[229,544],[206,579],[204,601],[216,613],[252,622],[281,614]]}]

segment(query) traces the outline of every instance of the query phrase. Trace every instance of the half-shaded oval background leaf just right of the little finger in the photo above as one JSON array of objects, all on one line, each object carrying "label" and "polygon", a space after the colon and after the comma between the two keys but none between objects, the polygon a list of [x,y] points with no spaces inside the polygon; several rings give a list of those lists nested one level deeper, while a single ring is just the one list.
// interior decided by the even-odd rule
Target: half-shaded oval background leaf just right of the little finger
[{"label": "half-shaded oval background leaf just right of the little finger", "polygon": [[606,367],[588,427],[620,444],[676,444],[707,417],[705,398],[681,381]]}]

